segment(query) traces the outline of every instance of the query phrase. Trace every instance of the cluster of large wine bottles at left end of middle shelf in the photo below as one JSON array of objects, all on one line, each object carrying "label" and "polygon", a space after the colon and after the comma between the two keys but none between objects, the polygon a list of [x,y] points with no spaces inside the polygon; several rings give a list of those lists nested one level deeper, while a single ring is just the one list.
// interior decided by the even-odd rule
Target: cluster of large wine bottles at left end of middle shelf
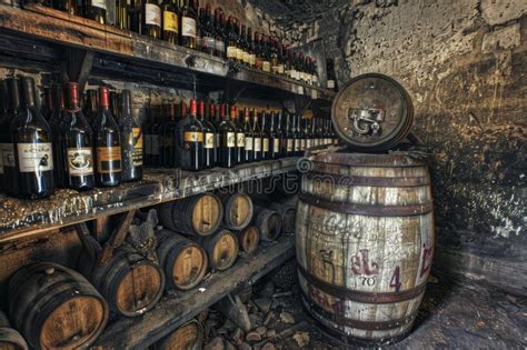
[{"label": "cluster of large wine bottles at left end of middle shelf", "polygon": [[91,124],[76,82],[66,84],[66,93],[61,84],[51,92],[47,120],[32,78],[0,82],[0,184],[6,193],[33,199],[50,196],[56,187],[83,191],[141,179],[142,132],[130,112],[130,91],[122,91],[117,123],[109,90],[100,87]]}]

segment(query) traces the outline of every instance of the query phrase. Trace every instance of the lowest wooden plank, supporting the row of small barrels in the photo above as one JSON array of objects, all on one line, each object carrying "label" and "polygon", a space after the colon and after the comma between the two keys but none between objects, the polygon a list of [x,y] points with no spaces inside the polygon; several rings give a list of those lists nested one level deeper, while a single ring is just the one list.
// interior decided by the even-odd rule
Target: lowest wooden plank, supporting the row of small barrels
[{"label": "lowest wooden plank, supporting the row of small barrels", "polygon": [[146,349],[228,293],[250,287],[294,256],[294,236],[282,234],[272,243],[261,244],[255,254],[239,258],[229,270],[211,274],[197,289],[166,296],[145,316],[111,323],[95,348]]}]

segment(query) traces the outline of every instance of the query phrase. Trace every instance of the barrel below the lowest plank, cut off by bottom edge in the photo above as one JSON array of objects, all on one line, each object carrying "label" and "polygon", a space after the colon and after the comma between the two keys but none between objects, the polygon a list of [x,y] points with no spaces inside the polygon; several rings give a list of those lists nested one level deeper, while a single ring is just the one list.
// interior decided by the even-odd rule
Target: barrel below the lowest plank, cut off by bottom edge
[{"label": "barrel below the lowest plank, cut off by bottom edge", "polygon": [[203,327],[197,320],[191,320],[170,336],[162,339],[155,349],[157,350],[199,350],[203,343]]}]

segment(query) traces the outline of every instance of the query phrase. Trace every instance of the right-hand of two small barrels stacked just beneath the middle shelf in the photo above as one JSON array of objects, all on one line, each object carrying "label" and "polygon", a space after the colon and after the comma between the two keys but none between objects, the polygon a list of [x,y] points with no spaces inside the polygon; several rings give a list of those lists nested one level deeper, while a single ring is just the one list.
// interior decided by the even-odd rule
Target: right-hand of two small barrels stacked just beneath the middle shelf
[{"label": "right-hand of two small barrels stacked just beneath the middle shelf", "polygon": [[232,193],[222,199],[223,226],[230,230],[242,230],[252,220],[253,207],[249,196]]}]

